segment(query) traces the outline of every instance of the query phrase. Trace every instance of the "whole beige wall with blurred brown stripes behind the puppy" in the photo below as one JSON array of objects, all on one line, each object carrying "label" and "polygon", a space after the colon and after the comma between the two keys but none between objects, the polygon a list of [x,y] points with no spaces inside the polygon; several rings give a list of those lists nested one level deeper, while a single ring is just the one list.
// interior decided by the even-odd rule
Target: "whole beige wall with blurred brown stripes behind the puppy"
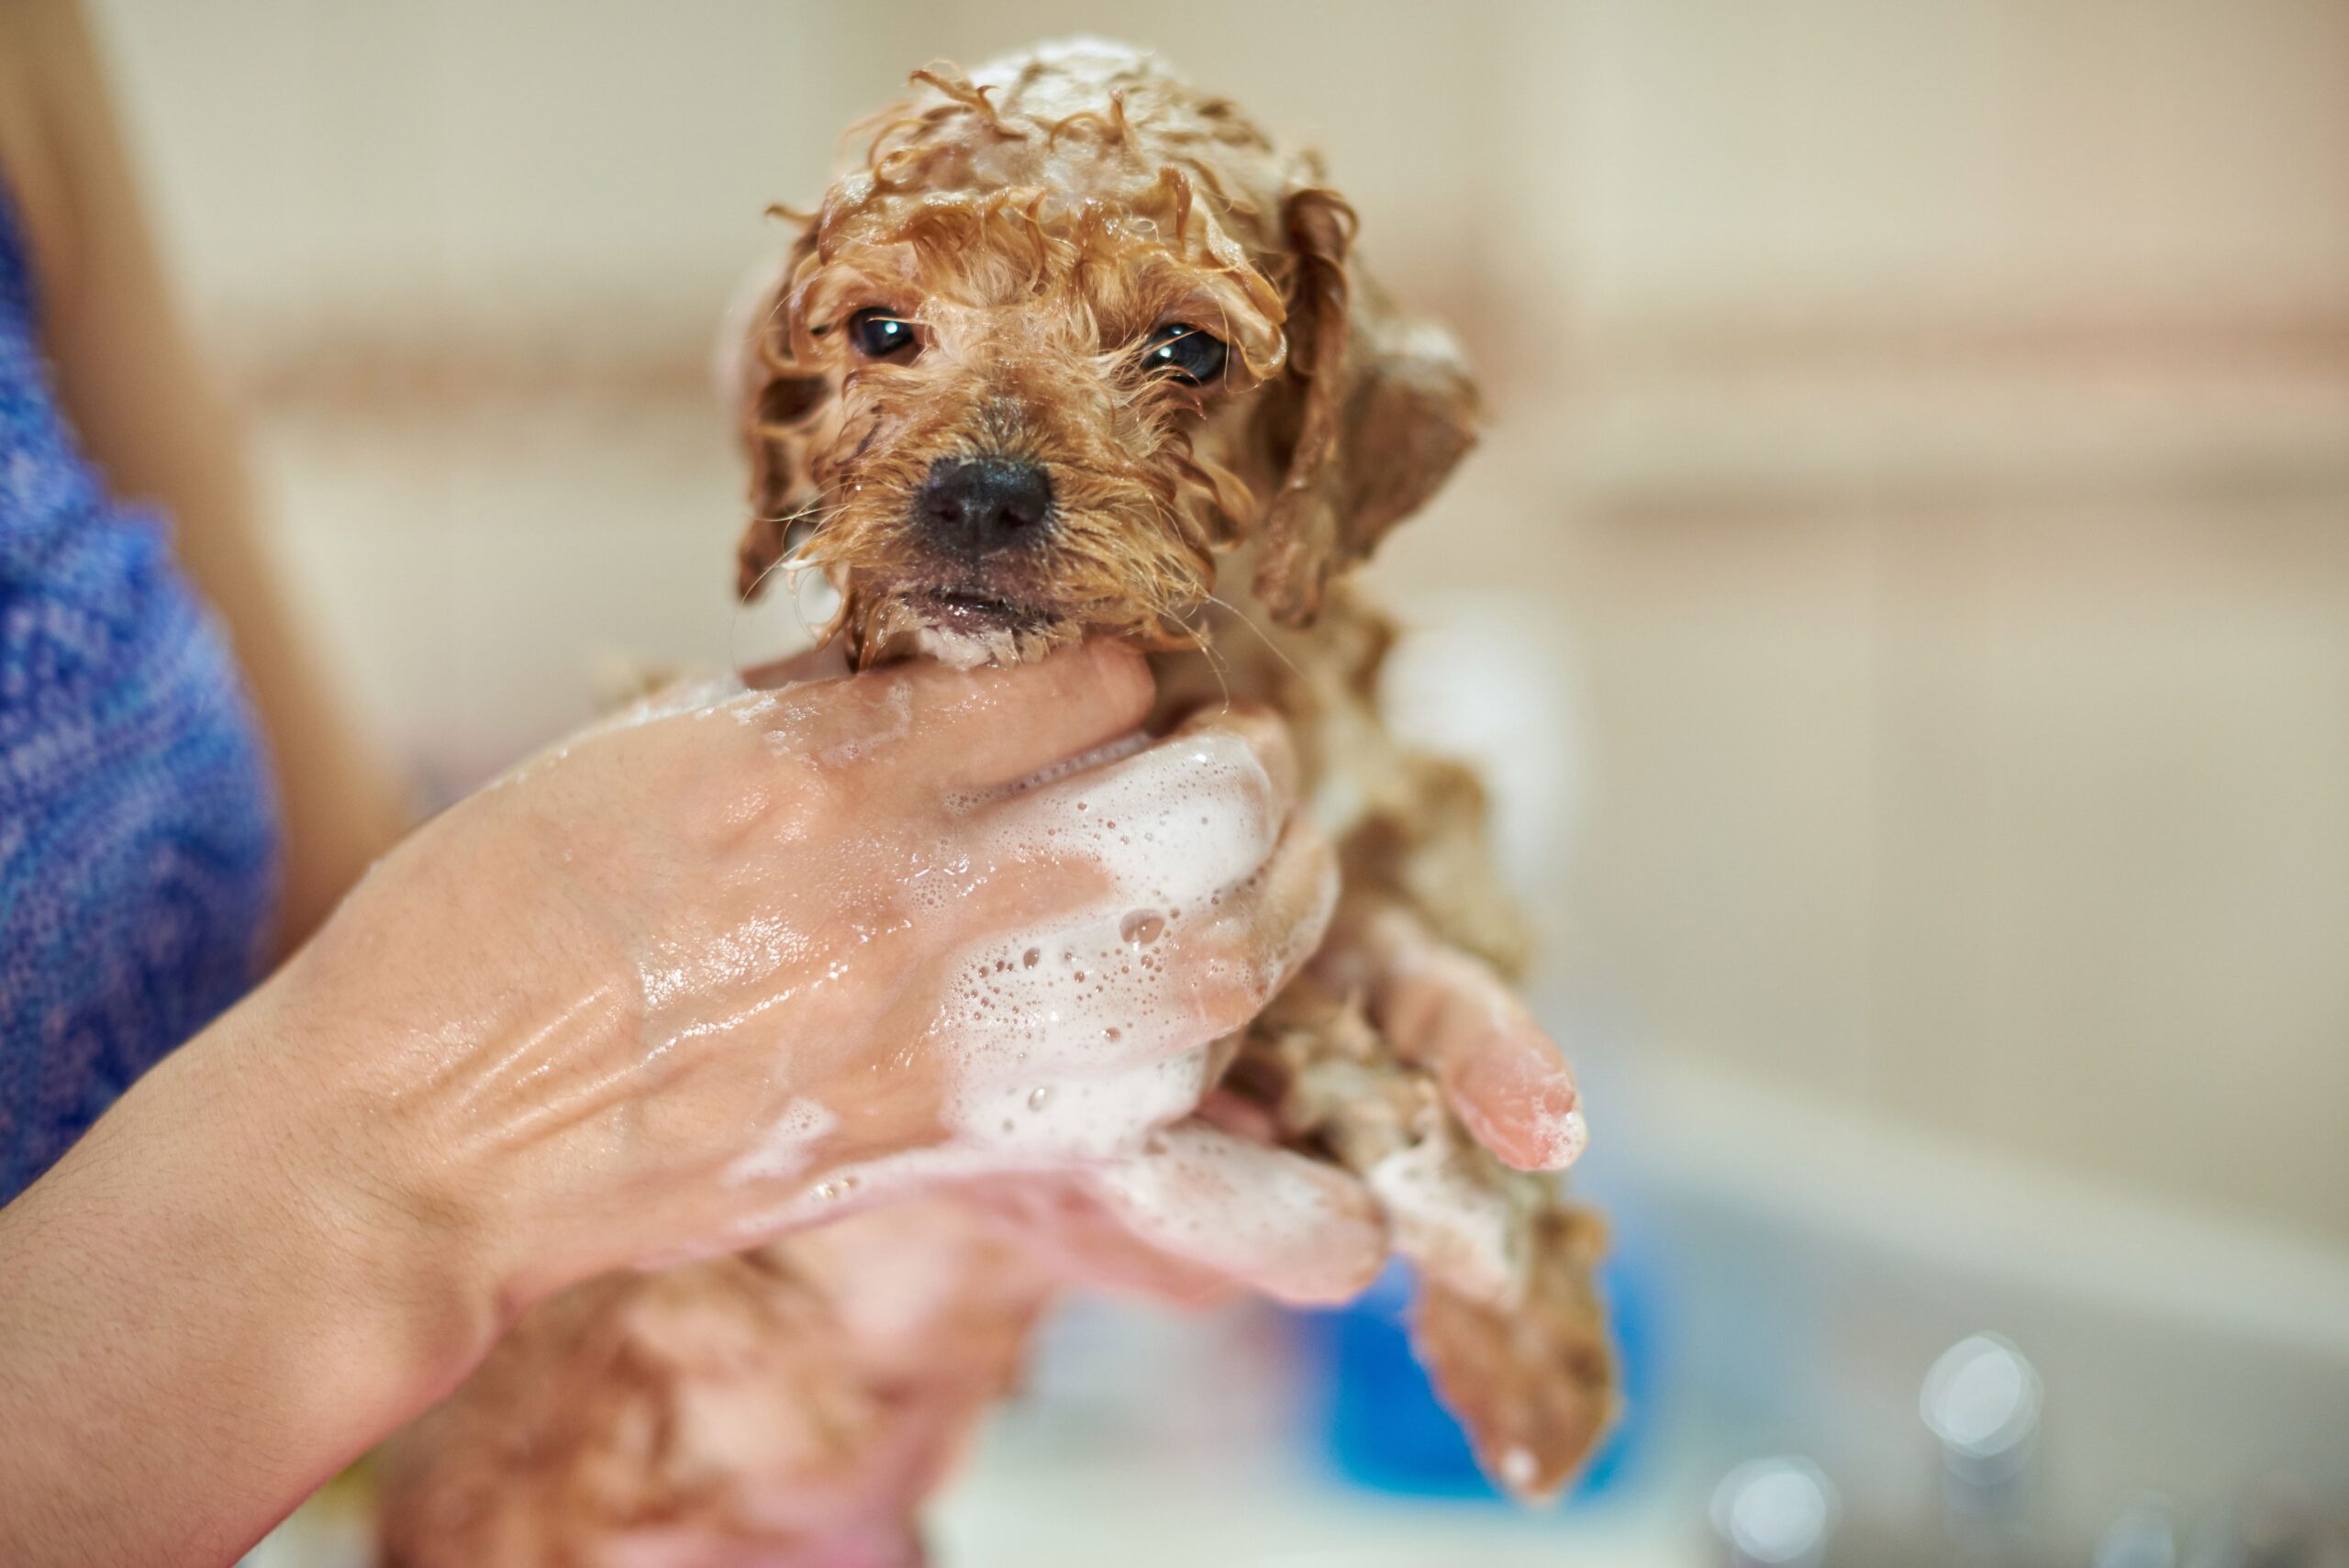
[{"label": "whole beige wall with blurred brown stripes behind the puppy", "polygon": [[745,636],[700,364],[759,209],[933,54],[1144,35],[1322,141],[1494,380],[1379,570],[1560,984],[2349,1242],[2349,7],[101,12],[322,634],[437,777]]}]

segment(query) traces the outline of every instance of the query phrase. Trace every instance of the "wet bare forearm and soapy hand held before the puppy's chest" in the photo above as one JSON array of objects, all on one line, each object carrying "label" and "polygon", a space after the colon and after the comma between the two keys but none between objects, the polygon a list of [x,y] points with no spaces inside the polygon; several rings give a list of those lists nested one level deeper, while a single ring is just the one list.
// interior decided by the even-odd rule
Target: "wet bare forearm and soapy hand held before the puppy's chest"
[{"label": "wet bare forearm and soapy hand held before the puppy's chest", "polygon": [[428,822],[0,1209],[0,1556],[228,1563],[531,1300],[937,1183],[1360,1289],[1367,1192],[1182,1120],[1330,913],[1278,723],[1017,786],[1149,707],[1113,648],[672,697]]}]

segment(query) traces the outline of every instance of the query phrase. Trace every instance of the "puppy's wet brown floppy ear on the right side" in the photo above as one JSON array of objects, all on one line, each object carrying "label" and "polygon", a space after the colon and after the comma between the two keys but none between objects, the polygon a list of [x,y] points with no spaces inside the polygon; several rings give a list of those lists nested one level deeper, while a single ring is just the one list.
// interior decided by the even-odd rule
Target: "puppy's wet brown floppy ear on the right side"
[{"label": "puppy's wet brown floppy ear on the right side", "polygon": [[1475,444],[1478,397],[1452,336],[1398,315],[1362,275],[1344,197],[1304,185],[1280,218],[1290,361],[1261,415],[1280,488],[1264,507],[1257,596],[1301,627],[1330,575],[1426,505]]}]

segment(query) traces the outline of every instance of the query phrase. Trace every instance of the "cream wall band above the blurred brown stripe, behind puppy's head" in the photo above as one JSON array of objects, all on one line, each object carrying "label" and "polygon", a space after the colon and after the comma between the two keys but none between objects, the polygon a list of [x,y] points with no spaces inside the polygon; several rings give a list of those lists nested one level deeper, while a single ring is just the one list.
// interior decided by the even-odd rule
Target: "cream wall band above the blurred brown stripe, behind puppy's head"
[{"label": "cream wall band above the blurred brown stripe, behind puppy's head", "polygon": [[1069,31],[1322,143],[1402,270],[1583,326],[2349,298],[2330,0],[96,2],[195,289],[272,319],[700,322],[911,63]]}]

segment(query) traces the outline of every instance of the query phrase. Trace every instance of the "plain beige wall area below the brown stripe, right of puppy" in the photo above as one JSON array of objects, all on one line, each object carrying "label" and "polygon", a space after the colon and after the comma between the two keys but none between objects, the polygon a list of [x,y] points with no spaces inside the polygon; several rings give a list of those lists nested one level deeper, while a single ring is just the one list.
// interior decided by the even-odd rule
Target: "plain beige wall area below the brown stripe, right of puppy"
[{"label": "plain beige wall area below the brown stripe, right of puppy", "polygon": [[1588,521],[1564,951],[1670,1049],[2340,1235],[2344,502]]}]

